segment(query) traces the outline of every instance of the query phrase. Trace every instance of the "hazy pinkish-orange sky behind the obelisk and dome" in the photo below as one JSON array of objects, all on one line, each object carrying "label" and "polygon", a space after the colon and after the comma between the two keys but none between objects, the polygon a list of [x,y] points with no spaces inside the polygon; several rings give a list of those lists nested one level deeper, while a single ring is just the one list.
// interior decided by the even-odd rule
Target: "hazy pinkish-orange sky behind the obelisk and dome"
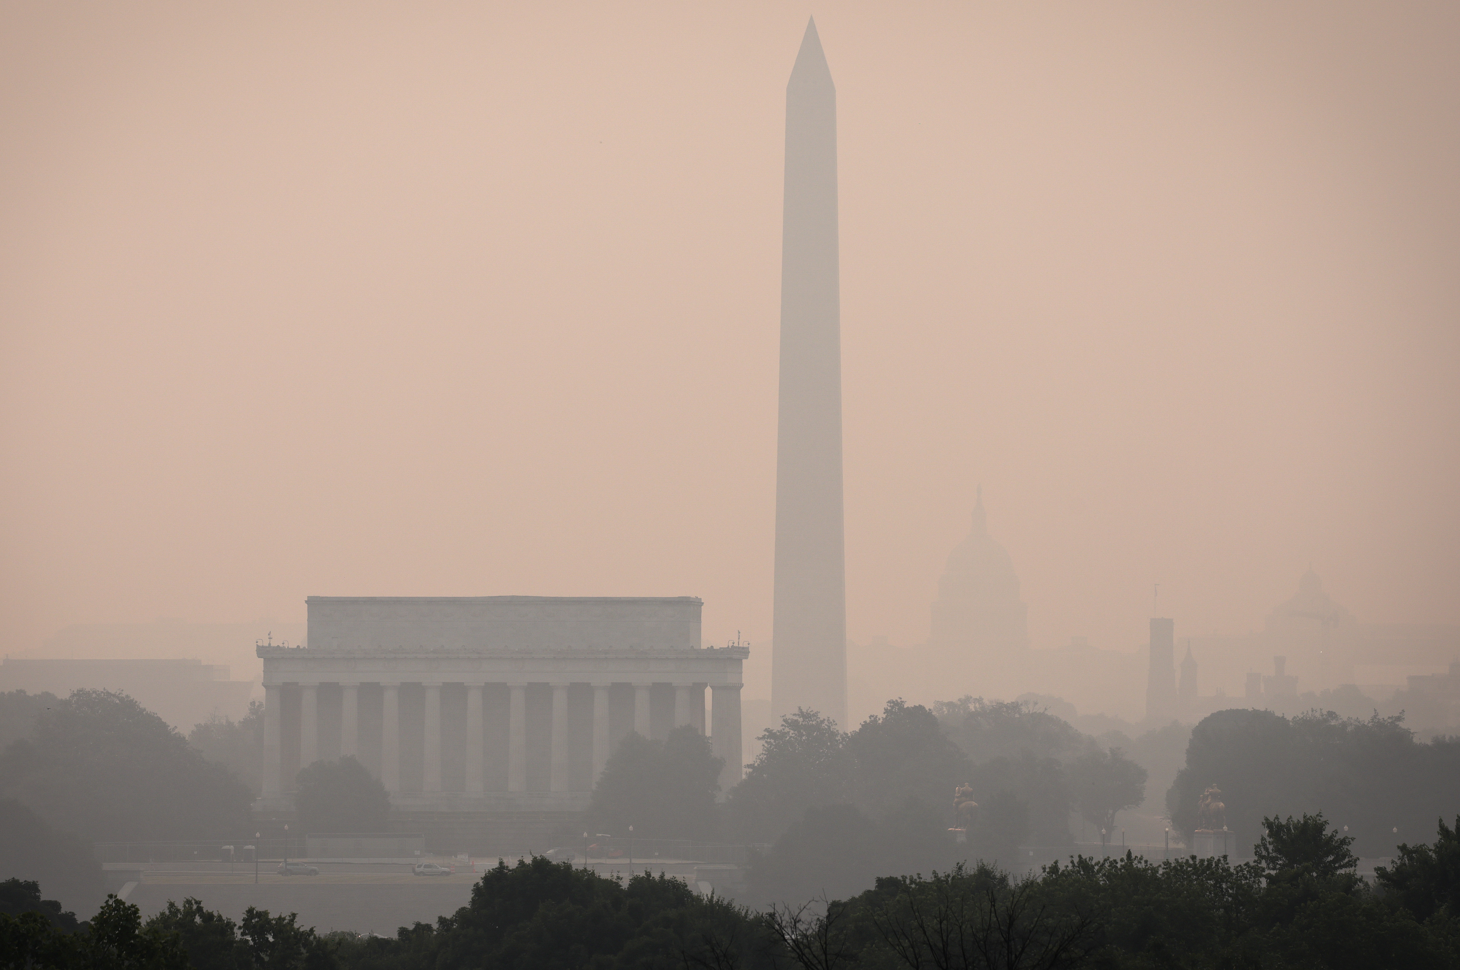
[{"label": "hazy pinkish-orange sky behind the obelisk and dome", "polygon": [[764,644],[809,13],[853,640],[927,635],[980,482],[1035,646],[1310,562],[1460,622],[1460,6],[1194,6],[6,4],[0,650],[307,595]]}]

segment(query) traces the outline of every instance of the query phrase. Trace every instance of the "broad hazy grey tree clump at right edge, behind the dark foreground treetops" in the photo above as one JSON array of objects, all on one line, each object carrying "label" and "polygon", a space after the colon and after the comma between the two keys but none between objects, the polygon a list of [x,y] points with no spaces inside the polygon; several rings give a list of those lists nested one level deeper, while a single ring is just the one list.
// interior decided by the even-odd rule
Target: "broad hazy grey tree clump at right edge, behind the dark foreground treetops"
[{"label": "broad hazy grey tree clump at right edge, behind the dark foreground treetops", "polygon": [[1263,817],[1323,809],[1349,827],[1358,855],[1390,856],[1402,837],[1428,834],[1460,805],[1460,739],[1416,742],[1402,717],[1225,710],[1191,732],[1167,793],[1174,828],[1190,836],[1209,784],[1222,789],[1226,825],[1240,839],[1256,836]]}]

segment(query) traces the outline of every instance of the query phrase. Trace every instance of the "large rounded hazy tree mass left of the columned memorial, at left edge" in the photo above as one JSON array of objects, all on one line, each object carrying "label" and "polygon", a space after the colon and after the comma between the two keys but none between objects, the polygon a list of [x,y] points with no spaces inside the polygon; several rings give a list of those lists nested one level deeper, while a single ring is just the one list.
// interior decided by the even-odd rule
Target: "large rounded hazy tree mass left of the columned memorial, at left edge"
[{"label": "large rounded hazy tree mass left of the columned memorial, at left edge", "polygon": [[96,841],[248,830],[248,787],[126,694],[74,691],[0,754],[0,795]]}]

